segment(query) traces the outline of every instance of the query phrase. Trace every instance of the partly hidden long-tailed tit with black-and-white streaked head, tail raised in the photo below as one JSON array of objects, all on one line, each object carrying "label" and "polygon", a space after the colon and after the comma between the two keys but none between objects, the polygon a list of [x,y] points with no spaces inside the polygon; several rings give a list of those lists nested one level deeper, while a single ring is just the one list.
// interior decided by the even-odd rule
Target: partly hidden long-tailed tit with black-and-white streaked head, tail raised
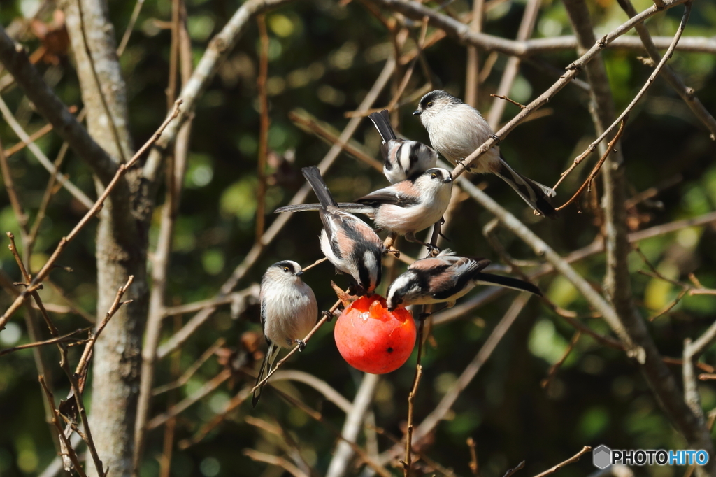
[{"label": "partly hidden long-tailed tit with black-and-white streaked head, tail raised", "polygon": [[399,139],[390,125],[388,110],[373,112],[368,116],[380,134],[383,143],[383,173],[391,184],[411,178],[424,170],[435,167],[437,153],[423,143]]}]

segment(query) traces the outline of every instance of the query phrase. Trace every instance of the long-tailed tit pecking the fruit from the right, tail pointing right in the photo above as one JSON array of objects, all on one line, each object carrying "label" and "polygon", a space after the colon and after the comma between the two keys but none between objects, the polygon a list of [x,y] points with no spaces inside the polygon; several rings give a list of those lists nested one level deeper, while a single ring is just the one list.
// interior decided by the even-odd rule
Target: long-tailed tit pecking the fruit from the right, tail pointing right
[{"label": "long-tailed tit pecking the fruit from the right, tail pointing right", "polygon": [[388,287],[388,309],[392,311],[398,305],[407,307],[442,302],[448,302],[448,307],[452,307],[455,300],[475,285],[504,286],[542,296],[541,291],[529,281],[483,273],[482,270],[489,264],[487,259],[455,256],[448,249],[435,257],[416,260]]}]

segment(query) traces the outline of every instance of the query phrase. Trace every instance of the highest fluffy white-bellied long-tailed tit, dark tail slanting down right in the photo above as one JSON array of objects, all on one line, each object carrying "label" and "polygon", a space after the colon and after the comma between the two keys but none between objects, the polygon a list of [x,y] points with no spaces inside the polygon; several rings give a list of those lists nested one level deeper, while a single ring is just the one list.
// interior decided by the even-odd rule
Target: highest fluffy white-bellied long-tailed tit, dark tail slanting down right
[{"label": "highest fluffy white-bellied long-tailed tit, dark tail slanting down right", "polygon": [[[434,90],[423,96],[412,114],[420,116],[422,125],[430,135],[430,145],[455,165],[462,163],[490,136],[495,135],[478,110],[442,90]],[[523,201],[543,216],[558,216],[549,203],[549,198],[556,195],[555,191],[513,170],[500,155],[499,146],[490,148],[468,170],[498,175]]]}]

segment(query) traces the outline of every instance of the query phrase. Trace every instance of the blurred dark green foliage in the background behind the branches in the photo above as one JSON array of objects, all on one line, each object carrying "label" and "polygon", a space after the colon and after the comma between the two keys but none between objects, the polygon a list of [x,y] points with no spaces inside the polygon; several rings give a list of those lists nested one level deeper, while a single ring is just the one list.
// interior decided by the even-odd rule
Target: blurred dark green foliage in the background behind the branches
[{"label": "blurred dark green foliage in the background behind the branches", "polygon": [[[38,1],[4,2],[0,6],[1,23],[8,27],[19,21],[22,14],[34,11]],[[514,38],[524,4],[522,0],[506,0],[490,9],[484,31]],[[641,10],[651,2],[638,0],[634,4]],[[238,2],[226,0],[188,1],[188,31],[195,61],[200,58],[208,40],[238,6]],[[626,18],[613,0],[590,2],[589,6],[598,34],[608,32]],[[133,7],[134,2],[110,2],[110,14],[118,37],[124,31]],[[448,11],[455,13],[470,8],[465,0],[455,0]],[[165,116],[170,49],[170,31],[165,28],[165,22],[170,16],[170,0],[145,2],[135,32],[121,58],[130,102],[130,125],[137,146],[150,137]],[[654,16],[648,22],[649,30],[652,34],[673,34],[680,16],[680,8]],[[42,20],[49,21],[49,18]],[[271,223],[274,218],[271,210],[285,204],[303,183],[300,167],[318,163],[329,148],[292,124],[289,112],[302,108],[341,129],[347,123],[344,113],[357,108],[382,69],[384,60],[392,54],[392,46],[383,24],[357,1],[347,4],[329,0],[294,2],[269,14],[267,24],[271,37],[267,84],[271,115],[269,147],[276,158],[295,158],[293,162],[289,160],[287,172],[282,170],[283,174],[276,175],[276,180],[269,186],[266,219]],[[707,1],[695,2],[686,34],[712,35],[715,27],[716,5]],[[414,29],[411,34],[411,41],[414,41],[419,32]],[[571,34],[571,28],[563,5],[555,0],[543,1],[534,36],[564,34]],[[39,46],[39,41],[29,33],[20,40],[30,51]],[[427,49],[425,57],[442,82],[438,86],[464,95],[463,46],[445,39]],[[481,57],[484,59],[486,55],[481,54]],[[558,52],[546,54],[543,59],[561,69],[575,57],[574,52]],[[651,69],[639,62],[634,52],[607,49],[604,60],[616,109],[621,110],[643,85]],[[489,94],[498,86],[505,61],[505,57],[498,56],[493,72],[480,88],[480,109],[490,106],[492,98]],[[716,58],[712,54],[677,52],[671,64],[687,85],[697,90],[707,109],[716,112],[716,88],[713,87],[716,85]],[[79,86],[71,59],[62,57],[57,65],[41,64],[40,67],[67,105],[80,105]],[[198,102],[185,191],[167,277],[169,304],[186,304],[213,297],[253,244],[258,184],[257,71],[258,29],[256,22],[251,21],[211,87]],[[524,63],[511,97],[528,102],[555,79]],[[409,89],[420,87],[424,81],[420,71],[416,70]],[[27,130],[34,131],[44,125],[44,120],[33,112],[18,88],[9,88],[3,97]],[[377,106],[387,105],[389,101],[390,92],[386,90]],[[412,106],[407,105],[400,111],[398,129],[409,138],[427,143],[427,133],[410,115]],[[518,127],[501,147],[505,158],[516,170],[542,183],[552,184],[594,139],[594,127],[589,116],[588,97],[576,87],[566,87],[543,110],[546,115]],[[516,106],[508,105],[503,120],[517,111]],[[5,122],[0,123],[0,138],[5,148],[17,141]],[[354,138],[365,143],[378,157],[379,140],[369,122],[362,123]],[[54,158],[61,141],[57,135],[49,134],[39,140],[38,145]],[[660,191],[651,202],[639,204],[630,211],[630,223],[634,228],[716,210],[715,143],[709,140],[705,128],[662,80],[654,83],[647,97],[629,117],[622,148],[632,195],[659,186],[676,175],[682,178],[675,186]],[[588,165],[581,166],[577,173],[565,180],[558,191],[559,201],[576,190],[594,160],[587,160]],[[27,150],[12,156],[9,163],[21,199],[34,217],[42,200],[47,173]],[[274,173],[274,168],[275,165],[270,164],[269,173]],[[89,169],[72,153],[65,160],[63,172],[69,174],[77,186],[94,195]],[[347,156],[339,158],[326,180],[339,200],[349,200],[384,186],[384,178],[379,173]],[[484,180],[491,196],[518,214],[562,254],[590,244],[599,235],[599,223],[589,209],[578,213],[572,207],[563,211],[558,221],[539,221],[500,181],[493,177],[475,180]],[[599,182],[595,187],[596,191],[601,190]],[[163,201],[163,191],[158,201]],[[71,230],[82,213],[82,207],[64,190],[57,193],[32,257],[34,271],[44,264],[59,238]],[[490,214],[469,200],[460,203],[456,213],[459,221],[448,228],[448,236],[452,239],[450,247],[463,255],[485,256],[498,262],[498,256],[481,233]],[[157,212],[150,231],[152,244],[155,244],[159,220]],[[2,184],[0,224],[2,231],[18,235],[16,219]],[[321,256],[316,240],[319,230],[316,214],[291,218],[289,226],[268,247],[239,288],[260,280],[266,267],[280,259],[294,259],[304,265],[318,259]],[[531,250],[511,233],[498,229],[498,238],[512,256],[534,258]],[[96,303],[94,241],[95,223],[92,223],[62,256],[61,264],[71,266],[74,271],[58,270],[52,274],[52,281],[91,314],[94,314]],[[687,274],[694,273],[704,286],[716,287],[715,244],[716,228],[701,226],[650,238],[639,246],[649,261],[669,279],[684,281]],[[412,256],[418,252],[412,245],[403,248]],[[632,254],[629,265],[633,271],[634,299],[644,317],[653,316],[680,291],[678,286],[667,281],[638,274],[637,271],[647,269],[647,266],[637,254]],[[591,257],[575,266],[599,286],[604,277],[603,256]],[[0,247],[0,269],[11,279],[19,280],[19,272],[5,246]],[[335,299],[328,286],[332,279],[344,284],[341,277],[334,277],[328,264],[306,274],[306,282],[314,287],[319,306],[324,309]],[[384,290],[384,286],[379,291]],[[542,279],[540,286],[559,306],[580,314],[590,311],[588,304],[563,277]],[[42,297],[45,302],[64,303],[51,286],[45,286]],[[433,339],[426,344],[424,374],[416,399],[417,422],[435,408],[451,383],[473,360],[475,352],[514,297],[513,293],[507,294],[462,319],[433,330]],[[9,294],[0,291],[2,309],[9,301]],[[715,297],[687,295],[669,313],[647,324],[659,350],[665,356],[679,357],[684,338],[697,337],[715,316]],[[165,324],[165,337],[175,329],[171,321],[169,319]],[[82,318],[72,313],[58,314],[57,322],[64,332],[87,326]],[[599,319],[586,319],[586,323],[598,332],[609,334],[609,329]],[[222,307],[182,347],[180,354],[158,364],[157,384],[175,379],[172,367],[182,371],[187,369],[218,337],[226,338],[228,347],[238,347],[238,339],[246,330],[260,330],[257,307],[249,307],[238,319],[233,319],[228,308]],[[310,372],[352,399],[361,375],[342,361],[330,334],[329,324],[288,367]],[[573,455],[583,445],[604,443],[612,448],[682,448],[683,439],[660,412],[637,368],[629,363],[623,352],[604,347],[590,337],[581,337],[548,389],[541,387],[540,382],[546,377],[548,368],[561,358],[573,334],[574,329],[563,319],[538,300],[531,300],[490,360],[455,403],[448,420],[437,426],[432,443],[425,445],[427,455],[443,466],[453,468],[459,475],[468,475],[469,451],[465,439],[471,436],[477,443],[481,475],[499,477],[523,460],[526,460],[526,469],[521,471],[523,475],[534,475]],[[44,331],[42,336],[45,336]],[[18,314],[0,333],[0,345],[10,347],[24,342],[29,342],[29,334],[21,314]],[[67,395],[67,381],[59,367],[54,366],[59,359],[57,351],[47,347],[44,353],[47,362],[53,364],[52,370],[56,371],[48,377],[55,395]],[[77,356],[71,356],[77,360]],[[716,353],[710,350],[704,361],[713,365],[715,358]],[[173,360],[175,365],[171,364]],[[375,397],[376,424],[393,435],[402,435],[405,425],[412,365],[415,365],[415,356],[405,367],[381,381]],[[220,370],[216,360],[208,360],[173,397],[164,394],[155,398],[152,414],[163,412],[172,400],[190,395]],[[680,378],[679,367],[672,367],[672,371]],[[203,423],[220,413],[239,386],[241,383],[233,388],[221,387],[182,413],[175,441],[190,437]],[[705,410],[710,410],[716,406],[716,393],[709,382],[703,382],[701,386],[702,405]],[[285,381],[279,387],[320,408],[333,425],[342,425],[342,412],[332,404],[324,404],[321,396],[311,388]],[[299,441],[306,462],[320,475],[324,473],[331,460],[334,435],[267,390],[258,409],[252,411],[248,403],[244,403],[200,443],[185,450],[175,447],[172,475],[280,475],[276,468],[253,462],[241,453],[243,448],[283,453],[273,436],[245,422],[246,415],[280,423]],[[1,357],[2,476],[38,474],[56,456],[57,450],[44,420],[32,352],[24,350]],[[162,453],[163,431],[153,430],[147,445],[142,476],[154,476],[158,473],[156,458]],[[390,440],[379,437],[379,445],[385,449]],[[593,470],[591,458],[586,456],[579,463],[559,471],[559,475],[581,476]],[[679,475],[683,469],[647,467],[636,471],[639,475],[671,477]]]}]

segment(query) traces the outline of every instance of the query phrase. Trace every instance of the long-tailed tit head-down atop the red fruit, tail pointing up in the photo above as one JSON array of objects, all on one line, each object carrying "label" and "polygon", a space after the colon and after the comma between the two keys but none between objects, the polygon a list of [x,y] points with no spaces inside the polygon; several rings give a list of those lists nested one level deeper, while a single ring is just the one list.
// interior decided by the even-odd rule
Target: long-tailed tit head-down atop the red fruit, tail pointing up
[{"label": "long-tailed tit head-down atop the red fruit, tail pointing up", "polygon": [[318,168],[303,168],[301,172],[320,203],[321,251],[338,271],[353,277],[359,293],[371,294],[380,284],[382,274],[385,247],[380,237],[367,223],[339,208]]}]

